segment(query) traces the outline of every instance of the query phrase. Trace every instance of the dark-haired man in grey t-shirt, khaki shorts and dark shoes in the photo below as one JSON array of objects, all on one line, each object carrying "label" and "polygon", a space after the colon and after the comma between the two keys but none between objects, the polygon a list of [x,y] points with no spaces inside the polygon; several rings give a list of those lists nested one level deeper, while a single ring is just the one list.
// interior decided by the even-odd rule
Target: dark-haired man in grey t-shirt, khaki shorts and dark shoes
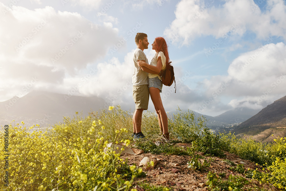
[{"label": "dark-haired man in grey t-shirt, khaki shorts and dark shoes", "polygon": [[[141,121],[142,121],[143,110],[148,109],[149,87],[148,87],[148,73],[144,72],[141,69],[141,67],[137,65],[137,60],[142,60],[147,64],[149,64],[146,55],[143,52],[144,49],[148,49],[149,42],[147,39],[147,34],[137,33],[135,37],[135,43],[137,45],[137,48],[135,49],[133,56],[134,74],[132,76],[132,83],[133,83],[133,99],[136,104],[136,107],[135,107],[135,112],[133,114],[132,122],[133,122],[134,139],[140,139],[145,137],[141,132]],[[146,68],[146,70],[147,69],[148,68]]]}]

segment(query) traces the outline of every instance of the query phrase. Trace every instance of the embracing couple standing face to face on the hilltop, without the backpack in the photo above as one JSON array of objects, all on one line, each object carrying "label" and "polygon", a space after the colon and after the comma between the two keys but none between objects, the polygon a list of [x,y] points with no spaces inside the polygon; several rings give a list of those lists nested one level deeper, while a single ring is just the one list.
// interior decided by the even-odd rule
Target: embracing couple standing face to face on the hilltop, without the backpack
[{"label": "embracing couple standing face to face on the hilltop, without the backpack", "polygon": [[135,37],[137,48],[134,51],[134,74],[133,99],[136,104],[133,114],[133,136],[134,139],[144,138],[141,132],[141,121],[143,110],[148,109],[149,93],[158,115],[159,126],[162,131],[162,137],[169,140],[168,117],[163,107],[160,92],[162,92],[161,77],[158,75],[161,70],[166,68],[166,63],[170,63],[168,46],[164,38],[155,38],[152,49],[156,51],[150,64],[143,50],[148,49],[147,34],[137,33]]}]

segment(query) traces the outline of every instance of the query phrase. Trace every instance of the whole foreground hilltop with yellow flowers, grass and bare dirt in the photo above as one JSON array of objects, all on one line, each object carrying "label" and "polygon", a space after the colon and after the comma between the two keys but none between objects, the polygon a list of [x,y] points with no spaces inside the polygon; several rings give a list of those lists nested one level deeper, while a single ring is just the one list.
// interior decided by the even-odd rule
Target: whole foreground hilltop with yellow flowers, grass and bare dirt
[{"label": "whole foreground hilltop with yellow flowers, grass and bare dirt", "polygon": [[[8,129],[3,127],[0,135],[2,167],[4,154],[9,152],[9,186],[2,182],[0,188],[13,191],[286,188],[285,138],[263,144],[251,138],[237,139],[231,133],[215,135],[205,123],[203,117],[195,120],[192,112],[177,109],[168,122],[171,141],[159,146],[155,144],[160,137],[156,115],[144,113],[142,132],[146,139],[135,142],[130,138],[132,115],[120,106],[90,113],[86,118],[65,117],[63,123],[40,131],[30,132],[34,127],[25,127],[24,122],[10,124]],[[5,133],[9,134],[6,145]],[[110,142],[143,149],[145,153],[116,154],[105,149]],[[152,170],[138,167],[144,156],[157,159],[158,165]],[[3,170],[1,176],[4,175]]]}]

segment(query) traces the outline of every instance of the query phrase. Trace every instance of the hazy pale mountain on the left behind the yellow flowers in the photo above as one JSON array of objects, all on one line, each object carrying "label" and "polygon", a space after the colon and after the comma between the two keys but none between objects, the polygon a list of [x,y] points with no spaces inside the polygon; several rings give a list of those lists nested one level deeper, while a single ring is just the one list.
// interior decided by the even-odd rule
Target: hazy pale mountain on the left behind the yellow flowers
[{"label": "hazy pale mountain on the left behind the yellow flowers", "polygon": [[97,111],[104,106],[99,97],[69,96],[58,93],[32,91],[19,98],[0,102],[1,124],[24,121],[25,125],[47,126],[63,121],[63,116],[74,116],[76,111],[88,115],[92,109]]}]

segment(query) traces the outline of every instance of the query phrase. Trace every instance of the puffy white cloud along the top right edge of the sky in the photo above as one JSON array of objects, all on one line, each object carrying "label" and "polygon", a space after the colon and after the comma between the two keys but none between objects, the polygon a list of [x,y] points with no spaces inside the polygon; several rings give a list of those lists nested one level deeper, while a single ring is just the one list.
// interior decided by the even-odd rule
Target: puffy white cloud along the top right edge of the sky
[{"label": "puffy white cloud along the top right edge of the sky", "polygon": [[246,31],[258,38],[282,36],[286,38],[286,5],[282,0],[267,1],[267,9],[261,12],[253,0],[227,0],[219,7],[215,1],[182,0],[177,4],[176,19],[164,34],[174,41],[189,44],[196,37],[222,38],[228,32],[241,37]]}]

